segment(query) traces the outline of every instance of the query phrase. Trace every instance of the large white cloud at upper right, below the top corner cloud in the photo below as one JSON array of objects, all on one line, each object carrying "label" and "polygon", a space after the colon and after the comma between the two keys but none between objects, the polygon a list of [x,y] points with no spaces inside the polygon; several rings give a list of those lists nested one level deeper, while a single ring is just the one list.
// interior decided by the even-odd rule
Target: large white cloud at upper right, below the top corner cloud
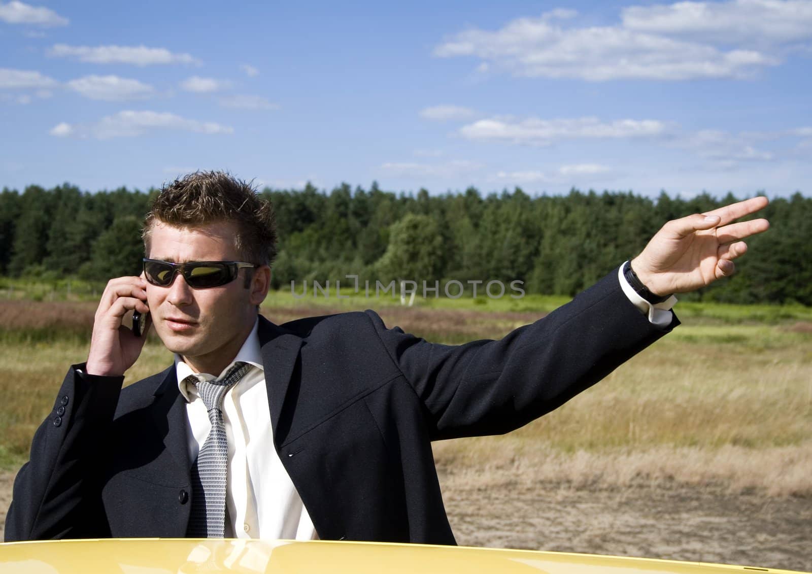
[{"label": "large white cloud at upper right, below the top corner cloud", "polygon": [[[776,0],[738,0],[729,4],[776,3]],[[680,10],[688,2],[653,6]],[[810,4],[806,2],[805,6]],[[675,8],[676,6],[676,8]],[[578,78],[590,81],[618,79],[693,80],[745,78],[780,63],[777,54],[765,51],[763,42],[749,41],[732,48],[708,34],[706,41],[660,33],[643,25],[641,8],[624,11],[633,28],[620,26],[564,28],[555,15],[514,19],[495,31],[470,28],[438,45],[441,58],[479,58],[480,71],[508,71],[514,76]],[[804,8],[806,11],[806,8]],[[568,13],[572,16],[572,14]],[[650,20],[654,20],[650,18]],[[812,28],[809,35],[812,37]],[[762,38],[767,38],[766,33]]]}]

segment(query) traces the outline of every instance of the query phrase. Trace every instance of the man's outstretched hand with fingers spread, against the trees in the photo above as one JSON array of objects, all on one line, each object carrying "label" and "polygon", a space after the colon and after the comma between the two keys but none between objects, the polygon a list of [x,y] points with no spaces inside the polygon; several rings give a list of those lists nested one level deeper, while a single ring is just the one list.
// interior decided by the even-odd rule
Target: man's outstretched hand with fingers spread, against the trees
[{"label": "man's outstretched hand with fingers spread, against the trees", "polygon": [[735,221],[767,203],[767,197],[754,197],[667,222],[632,260],[632,269],[654,295],[693,291],[732,275],[733,260],[747,251],[741,240],[770,227],[767,219]]}]

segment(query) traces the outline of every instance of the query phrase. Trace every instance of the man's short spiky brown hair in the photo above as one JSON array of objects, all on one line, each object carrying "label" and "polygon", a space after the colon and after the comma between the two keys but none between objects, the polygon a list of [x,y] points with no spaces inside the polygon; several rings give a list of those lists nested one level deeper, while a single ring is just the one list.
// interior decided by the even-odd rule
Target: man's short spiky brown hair
[{"label": "man's short spiky brown hair", "polygon": [[251,183],[224,171],[195,171],[162,186],[141,233],[147,252],[155,222],[192,228],[233,222],[240,257],[267,265],[276,257],[276,222],[270,201],[262,199]]}]

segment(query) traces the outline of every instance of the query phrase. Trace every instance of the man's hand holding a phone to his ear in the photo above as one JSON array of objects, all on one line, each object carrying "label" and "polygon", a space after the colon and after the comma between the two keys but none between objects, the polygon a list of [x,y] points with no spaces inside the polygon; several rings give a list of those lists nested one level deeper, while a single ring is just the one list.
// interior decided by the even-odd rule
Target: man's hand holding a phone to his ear
[{"label": "man's hand holding a phone to his ear", "polygon": [[[93,375],[118,376],[132,367],[144,347],[146,333],[140,337],[121,324],[122,317],[136,309],[148,313],[146,281],[140,277],[110,279],[93,320],[93,337],[85,366]],[[147,327],[149,330],[149,326]]]}]

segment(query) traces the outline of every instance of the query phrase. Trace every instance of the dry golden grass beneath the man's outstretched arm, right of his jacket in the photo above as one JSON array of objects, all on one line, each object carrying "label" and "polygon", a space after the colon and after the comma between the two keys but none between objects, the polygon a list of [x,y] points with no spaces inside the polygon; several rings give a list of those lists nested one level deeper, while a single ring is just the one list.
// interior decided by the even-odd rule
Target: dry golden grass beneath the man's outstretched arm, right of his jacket
[{"label": "dry golden grass beneath the man's outstretched arm, right of his jacket", "polygon": [[810,334],[680,330],[538,421],[439,443],[435,459],[460,488],[680,481],[812,496]]}]

